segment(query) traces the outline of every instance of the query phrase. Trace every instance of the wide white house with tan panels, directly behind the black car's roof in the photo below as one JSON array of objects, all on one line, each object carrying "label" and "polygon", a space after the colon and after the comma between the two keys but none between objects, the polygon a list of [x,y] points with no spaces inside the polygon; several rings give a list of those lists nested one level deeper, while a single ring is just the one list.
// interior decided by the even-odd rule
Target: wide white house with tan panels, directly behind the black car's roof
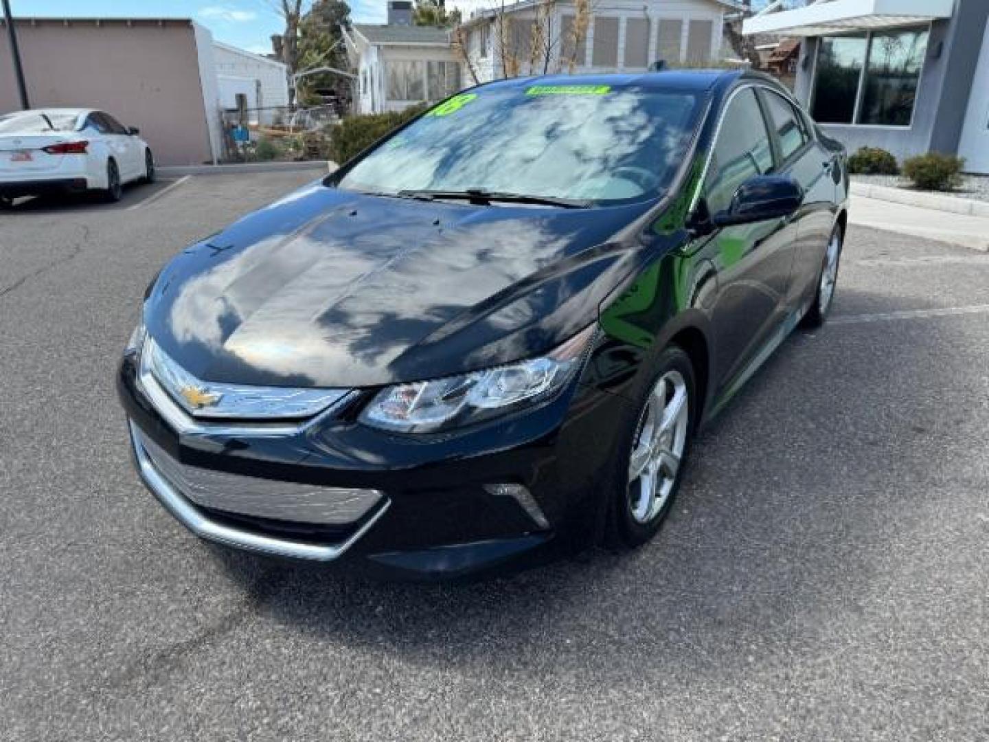
[{"label": "wide white house with tan panels, directly behind the black car's roof", "polygon": [[[600,0],[583,33],[573,0],[523,0],[483,10],[464,24],[465,83],[544,72],[645,71],[657,60],[704,66],[721,57],[730,0]],[[502,15],[503,14],[503,15]],[[504,18],[503,31],[498,23]]]}]

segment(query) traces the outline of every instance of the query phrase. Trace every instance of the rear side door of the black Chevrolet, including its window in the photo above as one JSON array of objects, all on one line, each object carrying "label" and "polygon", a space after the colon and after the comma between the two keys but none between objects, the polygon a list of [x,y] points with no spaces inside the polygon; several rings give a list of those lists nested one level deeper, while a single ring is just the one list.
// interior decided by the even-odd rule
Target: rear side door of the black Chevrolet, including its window
[{"label": "rear side door of the black Chevrolet, including its window", "polygon": [[797,249],[786,301],[788,312],[800,309],[817,285],[818,273],[834,224],[836,176],[841,166],[835,153],[820,146],[806,117],[783,95],[761,88],[766,114],[780,160],[780,172],[793,177],[804,189],[804,203],[797,213]]}]

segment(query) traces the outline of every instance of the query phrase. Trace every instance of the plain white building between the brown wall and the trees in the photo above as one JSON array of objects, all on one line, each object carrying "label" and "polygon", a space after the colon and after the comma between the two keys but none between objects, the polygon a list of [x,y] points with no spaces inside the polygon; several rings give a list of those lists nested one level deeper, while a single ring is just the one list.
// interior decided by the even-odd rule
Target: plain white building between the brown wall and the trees
[{"label": "plain white building between the brown wall and the trees", "polygon": [[268,124],[277,109],[289,105],[289,73],[282,62],[220,42],[213,43],[213,59],[222,109],[236,109],[242,95],[251,123]]}]

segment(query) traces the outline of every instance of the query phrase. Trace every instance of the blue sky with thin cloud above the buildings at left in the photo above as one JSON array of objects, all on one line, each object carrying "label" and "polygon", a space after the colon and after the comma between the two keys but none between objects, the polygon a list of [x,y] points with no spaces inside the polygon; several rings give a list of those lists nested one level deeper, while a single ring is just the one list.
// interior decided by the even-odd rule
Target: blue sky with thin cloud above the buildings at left
[{"label": "blue sky with thin cloud above the buildings at left", "polygon": [[[357,23],[384,23],[386,0],[348,0]],[[283,31],[268,0],[11,0],[15,17],[193,18],[217,41],[248,51],[271,51]]]}]

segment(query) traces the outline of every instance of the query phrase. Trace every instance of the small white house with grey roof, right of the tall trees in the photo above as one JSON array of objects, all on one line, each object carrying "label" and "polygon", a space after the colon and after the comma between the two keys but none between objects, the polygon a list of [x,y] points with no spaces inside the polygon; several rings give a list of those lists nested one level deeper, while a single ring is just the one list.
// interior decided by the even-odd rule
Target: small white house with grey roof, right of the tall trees
[{"label": "small white house with grey roof, right of the tall trees", "polygon": [[411,5],[390,0],[388,24],[343,29],[350,62],[357,68],[357,113],[402,111],[442,100],[463,87],[450,32],[413,26]]}]

